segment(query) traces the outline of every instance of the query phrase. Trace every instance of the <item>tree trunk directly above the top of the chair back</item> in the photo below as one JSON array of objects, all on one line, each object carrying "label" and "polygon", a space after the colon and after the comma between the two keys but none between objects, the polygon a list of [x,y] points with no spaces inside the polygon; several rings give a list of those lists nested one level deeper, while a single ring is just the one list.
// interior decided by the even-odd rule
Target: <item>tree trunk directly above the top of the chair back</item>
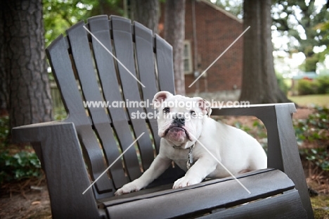
[{"label": "tree trunk directly above the top of the chair back", "polygon": [[134,0],[130,2],[131,20],[136,20],[157,33],[159,0]]}]

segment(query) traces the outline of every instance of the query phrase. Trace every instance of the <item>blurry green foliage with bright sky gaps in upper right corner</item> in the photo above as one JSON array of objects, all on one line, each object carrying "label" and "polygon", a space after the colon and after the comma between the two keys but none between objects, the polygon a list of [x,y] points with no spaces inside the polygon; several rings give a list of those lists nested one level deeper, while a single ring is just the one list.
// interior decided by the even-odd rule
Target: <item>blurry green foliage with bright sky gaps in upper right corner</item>
[{"label": "blurry green foliage with bright sky gaps in upper right corner", "polygon": [[[316,63],[322,61],[322,51],[314,52],[316,46],[328,45],[329,29],[323,23],[329,20],[329,13],[325,2],[315,4],[316,1],[273,1],[272,18],[273,26],[280,35],[289,37],[286,45],[289,51],[300,51],[306,56],[305,71],[315,71]],[[324,27],[323,27],[324,26]]]}]

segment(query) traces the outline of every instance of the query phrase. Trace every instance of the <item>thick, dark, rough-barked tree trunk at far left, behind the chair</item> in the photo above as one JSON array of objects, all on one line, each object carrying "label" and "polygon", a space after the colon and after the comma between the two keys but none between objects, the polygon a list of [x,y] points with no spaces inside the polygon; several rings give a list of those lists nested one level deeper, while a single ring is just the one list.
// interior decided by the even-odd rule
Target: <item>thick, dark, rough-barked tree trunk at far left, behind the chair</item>
[{"label": "thick, dark, rough-barked tree trunk at far left, behind the chair", "polygon": [[11,127],[51,120],[41,0],[2,4]]}]

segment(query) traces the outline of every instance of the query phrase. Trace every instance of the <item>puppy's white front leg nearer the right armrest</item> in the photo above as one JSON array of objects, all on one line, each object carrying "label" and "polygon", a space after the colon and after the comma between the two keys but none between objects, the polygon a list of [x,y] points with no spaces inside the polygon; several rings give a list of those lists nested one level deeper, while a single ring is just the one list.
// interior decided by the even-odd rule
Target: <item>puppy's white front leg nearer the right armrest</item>
[{"label": "puppy's white front leg nearer the right armrest", "polygon": [[217,166],[217,162],[212,157],[199,158],[198,161],[186,172],[184,177],[174,182],[173,189],[187,187],[192,184],[197,184],[212,173]]}]

